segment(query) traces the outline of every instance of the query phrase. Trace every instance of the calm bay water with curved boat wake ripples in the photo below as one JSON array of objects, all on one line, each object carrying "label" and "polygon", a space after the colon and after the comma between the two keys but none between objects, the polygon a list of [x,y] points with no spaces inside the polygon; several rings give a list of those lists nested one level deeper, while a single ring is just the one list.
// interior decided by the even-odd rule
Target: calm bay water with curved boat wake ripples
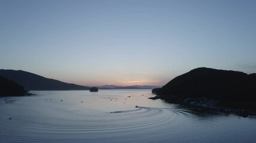
[{"label": "calm bay water with curved boat wake ripples", "polygon": [[256,117],[197,113],[150,89],[31,93],[0,98],[0,142],[256,142]]}]

